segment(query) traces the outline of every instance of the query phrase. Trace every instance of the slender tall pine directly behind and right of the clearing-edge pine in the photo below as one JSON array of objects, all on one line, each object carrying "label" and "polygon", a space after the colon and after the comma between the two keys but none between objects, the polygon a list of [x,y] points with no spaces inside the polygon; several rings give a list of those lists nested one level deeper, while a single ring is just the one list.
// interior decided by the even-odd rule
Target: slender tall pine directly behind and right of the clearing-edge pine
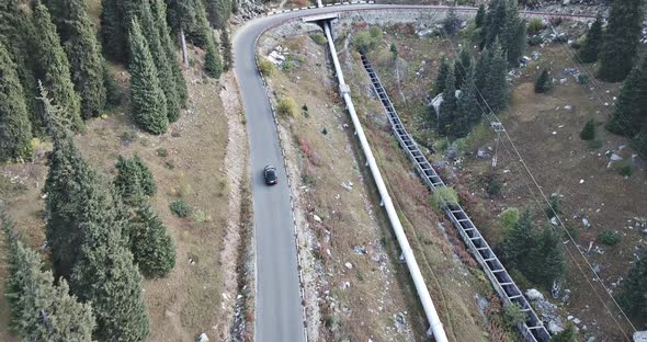
[{"label": "slender tall pine directly behind and right of the clearing-edge pine", "polygon": [[178,121],[180,117],[180,103],[178,99],[178,89],[175,87],[175,77],[173,76],[171,62],[175,60],[169,60],[170,57],[167,54],[166,48],[162,46],[160,32],[158,25],[155,23],[150,4],[148,1],[144,1],[141,4],[140,13],[141,32],[148,43],[148,49],[155,61],[157,69],[157,78],[159,79],[164,98],[167,99],[167,115],[169,122]]}]

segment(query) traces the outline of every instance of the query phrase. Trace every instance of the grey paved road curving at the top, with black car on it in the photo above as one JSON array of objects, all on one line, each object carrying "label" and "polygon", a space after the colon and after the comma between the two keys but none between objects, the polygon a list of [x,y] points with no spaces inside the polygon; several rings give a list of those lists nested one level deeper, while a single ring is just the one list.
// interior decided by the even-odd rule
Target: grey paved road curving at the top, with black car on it
[{"label": "grey paved road curving at the top, with black car on it", "polygon": [[[257,37],[271,26],[305,15],[342,11],[440,11],[443,9],[446,8],[389,4],[320,8],[254,19],[236,32],[234,37],[235,71],[247,116],[252,170],[251,184],[257,243],[256,341],[304,341],[304,317],[290,193],[269,99],[256,67]],[[461,11],[474,10],[461,9]],[[541,15],[548,16],[550,14],[542,13]],[[263,183],[262,169],[266,164],[276,167],[280,183],[275,186],[265,186]]]}]

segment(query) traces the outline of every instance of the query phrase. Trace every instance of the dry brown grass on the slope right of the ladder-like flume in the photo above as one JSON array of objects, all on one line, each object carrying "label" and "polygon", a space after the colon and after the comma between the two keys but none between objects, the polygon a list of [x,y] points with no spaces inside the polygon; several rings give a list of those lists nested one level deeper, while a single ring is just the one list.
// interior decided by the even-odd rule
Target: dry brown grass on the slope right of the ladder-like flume
[{"label": "dry brown grass on the slope right of the ladder-like flume", "polygon": [[[416,101],[420,102],[424,92],[430,89],[438,72],[439,56],[453,55],[453,52],[450,50],[450,46],[439,41],[395,36],[395,31],[386,31],[389,33],[386,43],[381,50],[373,54],[372,59],[382,80],[386,82],[387,91],[391,94],[390,98],[395,101],[399,114],[409,122],[407,128],[420,134],[417,124],[421,111]],[[390,42],[397,42],[400,57],[408,62],[406,82],[396,82],[388,59]],[[645,216],[647,197],[644,194],[647,191],[647,181],[644,169],[636,168],[634,175],[626,180],[617,170],[606,169],[609,158],[604,152],[611,149],[618,152],[618,146],[627,145],[626,139],[611,135],[602,126],[598,126],[598,138],[603,141],[602,148],[593,150],[580,140],[579,132],[588,118],[595,117],[599,123],[603,123],[610,114],[612,106],[601,104],[598,96],[604,99],[602,102],[611,100],[617,95],[618,84],[597,83],[599,88],[592,92],[591,83],[580,86],[572,77],[563,76],[561,71],[565,68],[574,67],[565,48],[565,45],[529,48],[527,54],[538,50],[542,57],[538,62],[531,62],[529,67],[521,69],[522,77],[513,81],[511,107],[500,117],[544,193],[549,195],[559,192],[565,195],[565,214],[561,218],[568,226],[576,228],[575,238],[582,248],[587,249],[589,241],[594,241],[597,235],[604,229],[618,230],[621,233],[622,240],[618,246],[602,247],[604,254],[594,252],[588,258],[589,262],[602,265],[601,276],[615,293],[618,288],[611,283],[617,282],[621,276],[626,277],[629,262],[634,258],[634,247],[645,243],[639,242],[638,231],[627,228],[627,220],[635,216]],[[421,60],[425,60],[425,64],[422,65]],[[550,67],[554,77],[568,78],[567,83],[555,86],[547,94],[535,94],[533,83],[541,71],[541,68],[536,69],[537,66]],[[577,67],[586,68],[589,73],[594,75],[595,66]],[[417,76],[416,72],[420,68],[423,68],[423,71]],[[404,96],[393,95],[399,90]],[[564,106],[567,104],[574,109],[565,110]],[[557,107],[559,110],[556,110]],[[470,139],[467,146],[467,152],[470,155],[479,147],[493,147],[493,135],[487,129],[479,128],[477,137]],[[458,176],[452,181],[473,220],[493,246],[504,238],[497,215],[508,207],[530,207],[536,213],[537,227],[546,225],[542,214],[545,207],[543,198],[525,174],[523,166],[517,162],[518,158],[508,149],[511,149],[509,144],[500,146],[499,164],[496,169],[496,178],[503,184],[501,194],[490,196],[485,190],[484,180],[491,172],[490,160],[467,158]],[[618,153],[628,159],[632,151],[625,149]],[[584,180],[584,183],[580,184],[580,180]],[[582,227],[579,217],[583,214],[589,217],[593,227]],[[574,218],[576,215],[578,218]],[[572,243],[568,243],[567,247],[577,255],[577,263],[567,254],[568,266],[564,286],[574,293],[565,310],[582,319],[589,328],[589,322],[597,321],[593,330],[598,335],[611,339],[618,329],[584,281],[584,277],[592,278],[593,275],[588,271],[588,265],[583,264]],[[580,273],[577,264],[583,267],[586,275]],[[605,304],[613,307],[604,289],[597,282],[593,284],[598,293],[605,297]]]}]

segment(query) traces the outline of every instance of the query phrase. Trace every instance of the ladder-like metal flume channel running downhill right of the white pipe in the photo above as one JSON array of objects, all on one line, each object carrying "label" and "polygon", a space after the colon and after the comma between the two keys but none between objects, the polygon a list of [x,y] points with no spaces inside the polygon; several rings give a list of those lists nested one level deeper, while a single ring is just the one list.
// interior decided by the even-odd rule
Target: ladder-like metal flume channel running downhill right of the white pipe
[{"label": "ladder-like metal flume channel running downhill right of the white pipe", "polygon": [[[436,187],[445,186],[443,180],[435,172],[427,157],[422,153],[416,141],[405,129],[402,122],[400,121],[388,94],[384,90],[377,73],[371,66],[371,62],[364,54],[362,54],[362,64],[368,72],[371,83],[375,93],[379,98],[379,101],[384,105],[386,115],[391,125],[391,129],[396,135],[400,146],[409,159],[416,164],[418,173],[422,178],[423,182],[434,192]],[[459,204],[449,205],[445,207],[445,214],[452,220],[452,224],[458,230],[458,233],[463,238],[467,248],[472,251],[472,254],[476,261],[480,264],[486,275],[495,286],[495,289],[499,294],[499,297],[507,304],[518,304],[522,311],[526,314],[526,321],[518,326],[521,333],[526,341],[550,341],[550,334],[544,327],[542,320],[537,317],[537,314],[533,310],[527,299],[523,296],[523,293],[519,289],[503,264],[499,261],[497,255],[492,252],[492,249],[483,238],[467,213],[461,207]]]}]

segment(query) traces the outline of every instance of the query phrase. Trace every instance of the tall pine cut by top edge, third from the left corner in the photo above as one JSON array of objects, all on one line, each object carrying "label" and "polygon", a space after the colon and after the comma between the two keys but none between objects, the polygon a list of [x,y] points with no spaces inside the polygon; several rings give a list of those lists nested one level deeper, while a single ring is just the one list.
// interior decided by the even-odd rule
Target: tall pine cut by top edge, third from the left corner
[{"label": "tall pine cut by top edge, third from the left corner", "polygon": [[81,96],[84,118],[98,116],[105,106],[103,58],[94,25],[88,16],[83,0],[60,0],[60,38],[71,67],[75,90]]}]

